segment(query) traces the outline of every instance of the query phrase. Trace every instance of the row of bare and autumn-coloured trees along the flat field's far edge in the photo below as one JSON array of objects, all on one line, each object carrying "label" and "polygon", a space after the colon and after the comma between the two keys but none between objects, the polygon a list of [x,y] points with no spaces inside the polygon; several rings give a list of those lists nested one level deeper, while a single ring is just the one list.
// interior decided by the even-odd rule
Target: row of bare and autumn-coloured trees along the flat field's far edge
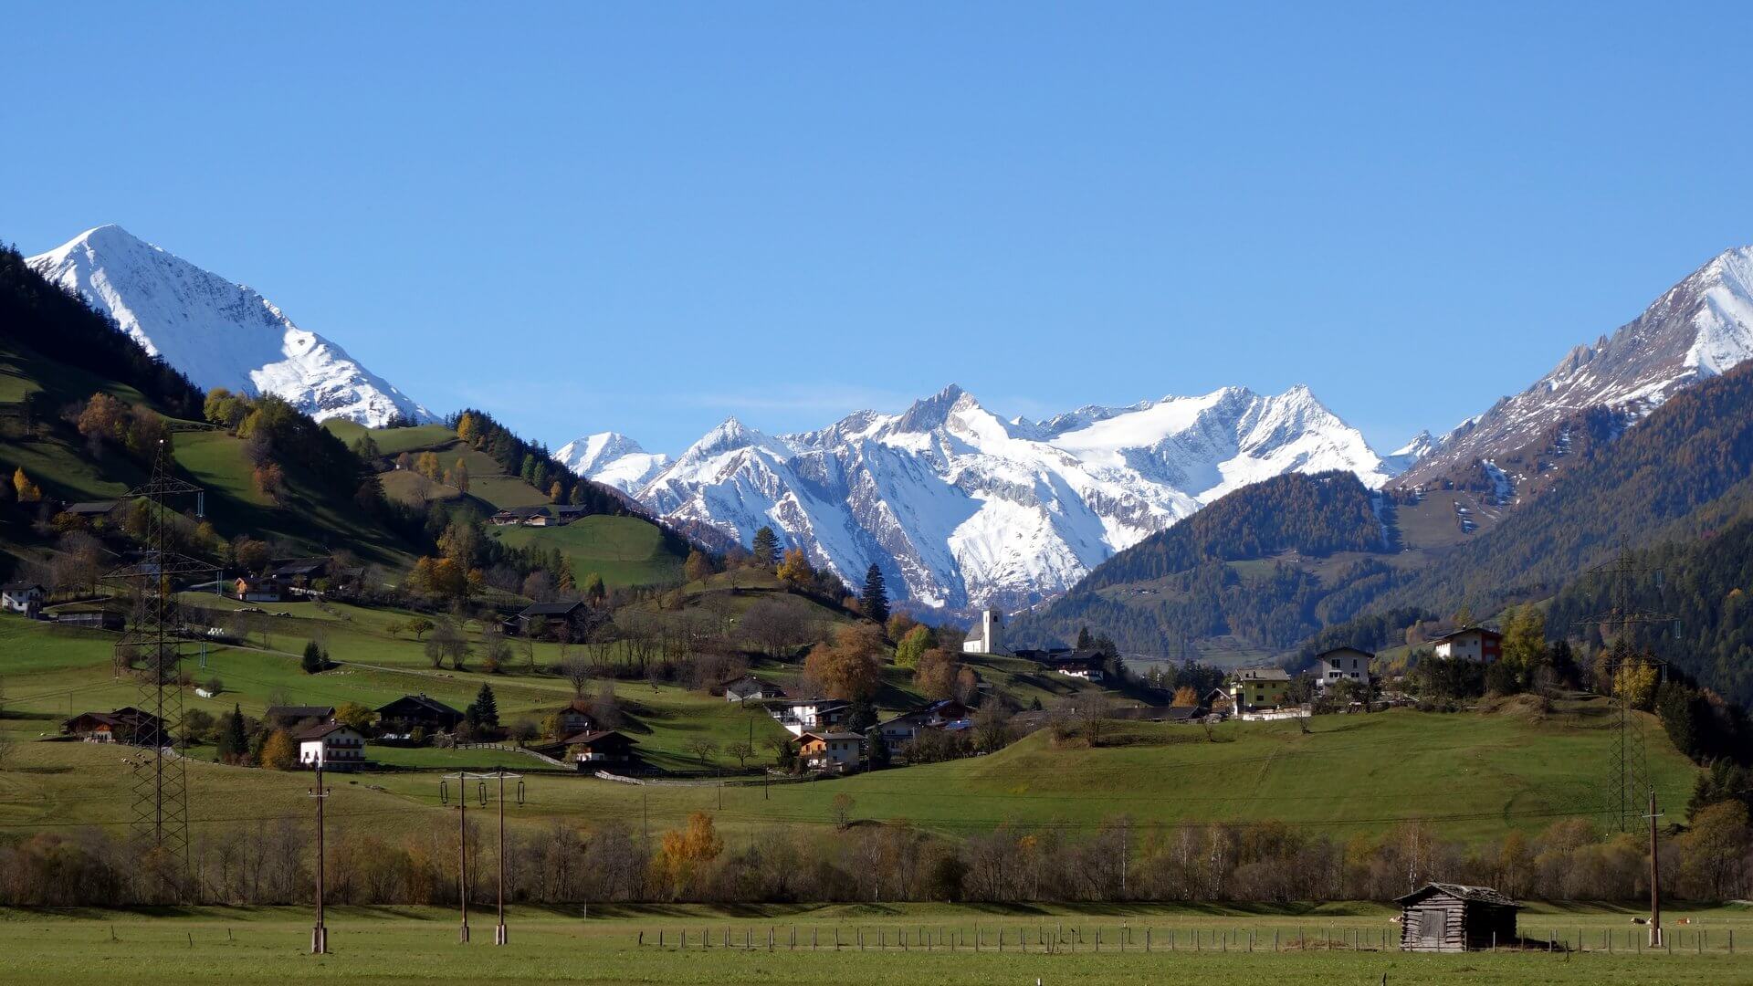
[{"label": "row of bare and autumn-coloured trees along the flat field's far edge", "polygon": [[[472,825],[475,867],[496,867],[491,828]],[[647,842],[621,819],[556,819],[514,828],[505,842],[512,902],[1299,902],[1390,900],[1425,881],[1495,886],[1518,898],[1639,900],[1648,895],[1648,839],[1569,818],[1527,835],[1444,840],[1429,823],[1380,835],[1336,825],[1013,826],[952,839],[906,819],[862,819],[840,795],[822,818],[735,840],[712,814]],[[1664,893],[1730,900],[1753,893],[1753,837],[1742,802],[1692,814],[1660,840]],[[326,879],[333,904],[454,904],[454,825],[389,837],[337,811]],[[182,870],[102,830],[51,830],[0,842],[0,904],[300,904],[314,891],[305,818],[259,818],[200,832]],[[473,886],[477,900],[493,881]]]}]

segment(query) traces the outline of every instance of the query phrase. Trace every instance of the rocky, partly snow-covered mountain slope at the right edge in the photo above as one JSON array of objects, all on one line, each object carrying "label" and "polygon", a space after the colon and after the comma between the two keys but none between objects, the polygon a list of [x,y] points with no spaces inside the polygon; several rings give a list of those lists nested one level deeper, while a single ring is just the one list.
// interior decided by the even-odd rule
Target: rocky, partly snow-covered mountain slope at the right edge
[{"label": "rocky, partly snow-covered mountain slope at the right edge", "polygon": [[1643,418],[1681,388],[1753,358],[1753,247],[1725,251],[1657,298],[1636,321],[1578,346],[1529,389],[1462,421],[1402,482],[1490,463],[1592,407]]}]

